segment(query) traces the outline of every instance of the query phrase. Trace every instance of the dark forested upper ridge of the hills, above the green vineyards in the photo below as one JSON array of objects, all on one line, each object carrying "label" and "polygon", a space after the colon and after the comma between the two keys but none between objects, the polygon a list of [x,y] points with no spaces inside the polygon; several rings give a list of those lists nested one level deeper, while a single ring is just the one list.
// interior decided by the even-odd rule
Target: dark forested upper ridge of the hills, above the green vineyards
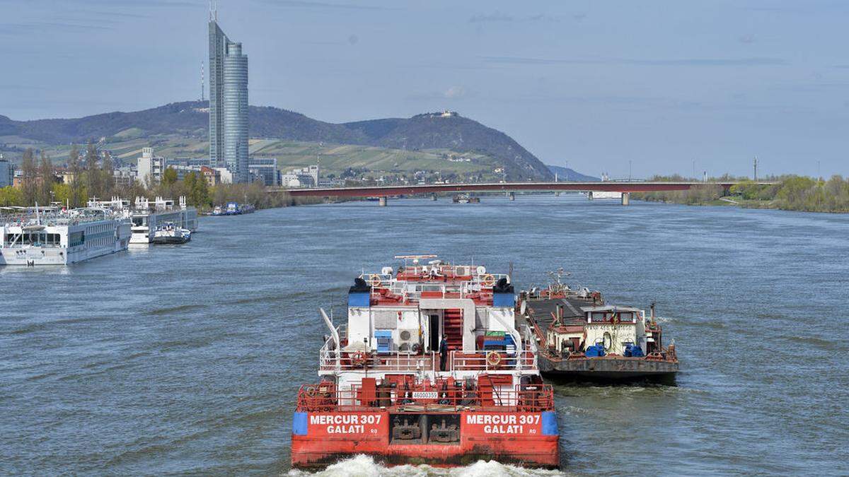
[{"label": "dark forested upper ridge of the hills, above the green vineyards", "polygon": [[[498,160],[512,180],[551,180],[542,161],[503,132],[453,114],[424,114],[334,124],[286,109],[250,106],[250,136],[394,149],[451,149]],[[78,119],[12,121],[0,116],[0,136],[24,137],[49,144],[85,143],[100,137],[178,134],[205,137],[207,102],[186,101],[129,113],[113,112]]]}]

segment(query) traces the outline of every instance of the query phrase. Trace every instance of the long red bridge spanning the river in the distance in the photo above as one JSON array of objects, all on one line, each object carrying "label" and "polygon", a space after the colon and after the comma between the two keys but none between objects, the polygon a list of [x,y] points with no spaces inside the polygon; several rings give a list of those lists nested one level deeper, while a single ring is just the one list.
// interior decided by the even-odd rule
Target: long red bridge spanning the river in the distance
[{"label": "long red bridge spanning the river in the distance", "polygon": [[[632,192],[653,192],[664,190],[688,190],[697,186],[715,185],[728,191],[738,182],[485,182],[475,184],[424,184],[412,186],[362,186],[349,188],[268,188],[269,192],[287,192],[292,197],[380,197],[391,195],[449,194],[467,192],[504,192],[519,191],[599,191],[621,192],[622,204],[627,205],[628,195]],[[774,182],[758,182],[771,185]],[[383,200],[381,200],[383,201]]]}]

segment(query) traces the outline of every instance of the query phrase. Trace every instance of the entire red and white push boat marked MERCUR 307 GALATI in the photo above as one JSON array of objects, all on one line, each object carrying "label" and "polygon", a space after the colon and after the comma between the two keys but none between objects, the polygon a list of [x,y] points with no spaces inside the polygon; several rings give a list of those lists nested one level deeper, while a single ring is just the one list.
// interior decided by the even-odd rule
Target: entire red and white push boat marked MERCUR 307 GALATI
[{"label": "entire red and white push boat marked MERCUR 307 GALATI", "polygon": [[402,255],[363,273],[330,334],[315,384],[298,391],[292,465],[366,454],[450,467],[479,459],[559,466],[554,392],[528,327],[515,326],[505,274]]}]

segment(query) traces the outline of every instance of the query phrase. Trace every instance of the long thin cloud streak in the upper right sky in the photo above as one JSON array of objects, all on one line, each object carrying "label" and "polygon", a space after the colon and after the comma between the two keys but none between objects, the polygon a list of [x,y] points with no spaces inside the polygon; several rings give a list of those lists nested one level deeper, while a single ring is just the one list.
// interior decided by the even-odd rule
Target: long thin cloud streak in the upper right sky
[{"label": "long thin cloud streak in the upper right sky", "polygon": [[778,58],[737,58],[737,59],[542,59],[514,56],[485,56],[486,63],[504,65],[637,65],[637,66],[769,66],[787,65],[787,61]]}]

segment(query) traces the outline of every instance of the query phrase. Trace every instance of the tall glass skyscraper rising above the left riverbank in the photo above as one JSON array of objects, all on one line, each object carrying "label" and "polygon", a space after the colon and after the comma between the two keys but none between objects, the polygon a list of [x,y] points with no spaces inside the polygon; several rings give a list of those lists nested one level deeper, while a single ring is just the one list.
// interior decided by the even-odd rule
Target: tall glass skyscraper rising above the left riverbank
[{"label": "tall glass skyscraper rising above the left riverbank", "polygon": [[210,162],[248,182],[248,57],[210,12]]}]

